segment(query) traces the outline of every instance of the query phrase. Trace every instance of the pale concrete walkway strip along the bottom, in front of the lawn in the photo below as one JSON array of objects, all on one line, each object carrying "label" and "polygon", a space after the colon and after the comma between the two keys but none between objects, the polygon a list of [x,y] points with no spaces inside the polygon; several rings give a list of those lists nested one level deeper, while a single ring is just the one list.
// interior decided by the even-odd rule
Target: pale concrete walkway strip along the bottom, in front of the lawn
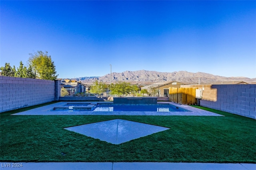
[{"label": "pale concrete walkway strip along the bottom, in front of the lawn", "polygon": [[[256,170],[256,164],[172,162],[0,162],[1,170]],[[22,165],[22,167],[20,166]],[[20,166],[20,167],[18,167]]]}]

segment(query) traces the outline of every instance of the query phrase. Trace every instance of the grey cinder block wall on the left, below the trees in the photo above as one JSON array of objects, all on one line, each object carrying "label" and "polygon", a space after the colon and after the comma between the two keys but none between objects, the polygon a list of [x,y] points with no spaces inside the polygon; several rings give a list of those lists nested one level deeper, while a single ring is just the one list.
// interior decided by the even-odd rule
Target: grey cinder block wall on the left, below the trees
[{"label": "grey cinder block wall on the left, below the trees", "polygon": [[54,101],[55,82],[0,76],[0,112]]}]

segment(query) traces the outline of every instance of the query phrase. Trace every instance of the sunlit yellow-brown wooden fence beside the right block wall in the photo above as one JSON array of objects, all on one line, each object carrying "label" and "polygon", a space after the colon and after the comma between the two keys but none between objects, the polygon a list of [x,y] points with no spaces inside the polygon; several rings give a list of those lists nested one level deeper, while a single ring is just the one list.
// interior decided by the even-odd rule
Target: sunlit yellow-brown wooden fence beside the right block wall
[{"label": "sunlit yellow-brown wooden fence beside the right block wall", "polygon": [[198,88],[171,87],[169,88],[169,101],[178,104],[195,105],[197,104],[196,89]]}]

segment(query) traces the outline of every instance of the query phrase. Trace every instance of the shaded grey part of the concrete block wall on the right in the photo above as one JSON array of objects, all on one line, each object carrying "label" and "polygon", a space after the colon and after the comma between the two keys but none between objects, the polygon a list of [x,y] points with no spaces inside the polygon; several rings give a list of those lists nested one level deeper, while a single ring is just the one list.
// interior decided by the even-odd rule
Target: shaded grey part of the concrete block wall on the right
[{"label": "shaded grey part of the concrete block wall on the right", "polygon": [[212,85],[216,102],[201,100],[200,105],[256,119],[256,84]]}]

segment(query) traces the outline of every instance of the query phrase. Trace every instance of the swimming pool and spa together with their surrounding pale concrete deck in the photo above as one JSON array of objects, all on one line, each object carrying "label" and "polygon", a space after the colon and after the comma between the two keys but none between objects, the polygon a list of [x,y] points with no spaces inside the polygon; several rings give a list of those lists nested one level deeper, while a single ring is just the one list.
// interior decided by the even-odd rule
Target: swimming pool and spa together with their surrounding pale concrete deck
[{"label": "swimming pool and spa together with their surrounding pale concrete deck", "polygon": [[[180,105],[174,102],[158,102],[157,104],[144,104],[148,107],[156,107],[148,111],[143,104],[124,104],[123,111],[116,111],[116,105],[113,102],[58,102],[47,106],[38,107],[28,111],[15,113],[12,115],[156,115],[156,116],[222,116],[210,111],[198,109],[196,107]],[[137,106],[136,106],[137,105]],[[151,106],[150,106],[151,105]],[[103,106],[103,107],[102,107]],[[104,107],[105,106],[105,107]],[[107,106],[107,107],[106,107]],[[134,107],[133,107],[134,106]],[[168,106],[168,107],[167,107]],[[98,108],[97,108],[98,107]],[[100,111],[97,111],[101,107]],[[125,107],[130,107],[126,109]],[[140,111],[136,107],[141,107],[144,111]],[[172,108],[177,110],[172,111]],[[96,108],[96,109],[95,109]],[[134,111],[128,111],[134,110]],[[146,110],[146,111],[145,111]]]}]

